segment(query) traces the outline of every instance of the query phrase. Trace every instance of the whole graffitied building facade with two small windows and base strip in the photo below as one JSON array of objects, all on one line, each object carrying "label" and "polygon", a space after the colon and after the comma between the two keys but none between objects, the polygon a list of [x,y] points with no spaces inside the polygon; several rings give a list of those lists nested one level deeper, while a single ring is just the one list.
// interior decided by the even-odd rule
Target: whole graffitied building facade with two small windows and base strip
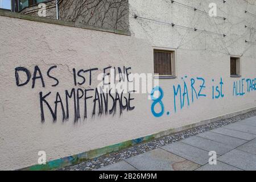
[{"label": "whole graffitied building facade with two small windows and base strip", "polygon": [[[118,27],[0,11],[1,169],[56,169],[255,110],[256,1],[126,6]],[[136,85],[132,73],[155,85],[98,87]]]}]

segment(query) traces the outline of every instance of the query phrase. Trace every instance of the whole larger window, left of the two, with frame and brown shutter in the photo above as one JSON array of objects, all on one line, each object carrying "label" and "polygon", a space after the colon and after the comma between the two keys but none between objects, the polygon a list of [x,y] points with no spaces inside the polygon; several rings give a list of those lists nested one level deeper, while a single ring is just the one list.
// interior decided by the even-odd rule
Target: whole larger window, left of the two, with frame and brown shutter
[{"label": "whole larger window, left of the two, with frame and brown shutter", "polygon": [[176,78],[175,51],[154,49],[154,76]]}]

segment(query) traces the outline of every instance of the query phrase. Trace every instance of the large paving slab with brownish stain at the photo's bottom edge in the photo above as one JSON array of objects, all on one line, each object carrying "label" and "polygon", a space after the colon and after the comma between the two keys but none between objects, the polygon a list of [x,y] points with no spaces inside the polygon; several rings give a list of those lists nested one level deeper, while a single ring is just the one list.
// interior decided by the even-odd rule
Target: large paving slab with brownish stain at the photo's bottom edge
[{"label": "large paving slab with brownish stain at the photo's bottom edge", "polygon": [[142,171],[192,171],[200,167],[161,148],[126,159],[126,162]]}]

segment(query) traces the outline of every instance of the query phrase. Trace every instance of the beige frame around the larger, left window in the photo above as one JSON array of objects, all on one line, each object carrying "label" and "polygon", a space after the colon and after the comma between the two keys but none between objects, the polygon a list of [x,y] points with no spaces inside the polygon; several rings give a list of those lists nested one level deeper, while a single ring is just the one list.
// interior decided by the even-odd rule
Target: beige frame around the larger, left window
[{"label": "beige frame around the larger, left window", "polygon": [[[155,75],[155,60],[154,60],[154,53],[155,51],[159,52],[170,52],[171,53],[171,75]],[[168,79],[168,78],[177,78],[177,71],[176,71],[176,49],[174,48],[164,48],[164,47],[152,47],[152,55],[153,55],[153,73],[154,78],[159,79]]]}]

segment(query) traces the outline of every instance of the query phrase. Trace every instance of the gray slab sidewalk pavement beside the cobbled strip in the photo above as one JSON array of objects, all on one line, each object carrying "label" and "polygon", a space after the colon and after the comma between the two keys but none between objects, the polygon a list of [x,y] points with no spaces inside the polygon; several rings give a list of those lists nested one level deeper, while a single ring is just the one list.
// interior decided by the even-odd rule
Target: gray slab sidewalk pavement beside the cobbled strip
[{"label": "gray slab sidewalk pavement beside the cobbled strip", "polygon": [[[212,156],[209,156],[209,151],[216,151],[216,165],[209,164]],[[207,131],[97,170],[256,170],[256,117]]]}]

